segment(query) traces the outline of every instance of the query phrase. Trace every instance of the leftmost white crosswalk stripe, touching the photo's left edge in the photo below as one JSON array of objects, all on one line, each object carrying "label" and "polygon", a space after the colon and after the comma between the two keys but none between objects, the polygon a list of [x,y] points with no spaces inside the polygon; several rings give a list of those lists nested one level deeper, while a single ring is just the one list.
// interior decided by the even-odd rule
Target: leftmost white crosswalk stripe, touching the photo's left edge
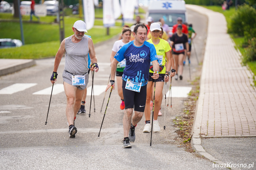
[{"label": "leftmost white crosswalk stripe, touching the photo's left edge", "polygon": [[0,94],[13,94],[37,85],[37,83],[15,83],[0,90]]}]

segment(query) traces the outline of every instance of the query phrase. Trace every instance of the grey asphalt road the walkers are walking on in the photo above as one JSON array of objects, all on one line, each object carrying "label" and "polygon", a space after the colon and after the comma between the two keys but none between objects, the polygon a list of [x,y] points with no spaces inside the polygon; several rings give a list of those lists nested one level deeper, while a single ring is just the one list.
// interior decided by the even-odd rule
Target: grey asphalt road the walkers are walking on
[{"label": "grey asphalt road the walkers are walking on", "polygon": [[[194,40],[198,59],[203,59],[207,31],[207,18],[188,10],[189,23],[197,32]],[[94,75],[94,85],[106,85],[110,74],[109,56],[116,39],[96,46],[99,72]],[[61,74],[64,58],[58,68],[57,83],[63,82]],[[166,129],[164,116],[159,117],[161,132],[143,133],[143,117],[136,127],[136,141],[131,149],[122,148],[123,110],[119,109],[120,98],[113,90],[106,116],[98,137],[109,91],[106,94],[103,111],[100,112],[104,92],[95,96],[91,116],[77,115],[76,138],[69,138],[66,120],[66,96],[64,92],[52,96],[47,125],[45,125],[50,95],[36,95],[45,88],[51,89],[54,58],[36,60],[36,66],[0,77],[0,89],[15,83],[36,83],[31,88],[13,94],[0,94],[0,166],[1,169],[218,169],[212,162],[198,158],[179,147],[172,119],[182,113],[185,98],[172,98],[172,108],[166,108]],[[191,75],[197,77],[198,64],[192,50]],[[91,76],[88,87],[91,85]],[[167,89],[169,87],[167,85]],[[183,80],[173,79],[172,87],[191,87],[188,65],[184,68]],[[102,86],[101,86],[102,87]],[[55,89],[54,89],[55,90]],[[100,91],[100,86],[94,89]],[[56,91],[56,90],[55,90]],[[167,99],[168,100],[168,99]],[[167,102],[167,101],[166,101]],[[89,112],[90,95],[86,99]],[[164,100],[162,102],[164,113]],[[222,168],[224,169],[224,168]]]}]

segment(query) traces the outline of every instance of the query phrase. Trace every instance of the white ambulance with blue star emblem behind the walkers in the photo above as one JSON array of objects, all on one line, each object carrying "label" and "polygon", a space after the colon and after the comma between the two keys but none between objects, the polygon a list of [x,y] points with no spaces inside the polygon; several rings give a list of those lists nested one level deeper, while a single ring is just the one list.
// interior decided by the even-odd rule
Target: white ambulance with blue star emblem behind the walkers
[{"label": "white ambulance with blue star emblem behind the walkers", "polygon": [[[150,1],[147,17],[152,17],[154,22],[160,18],[169,25],[169,36],[172,36],[172,26],[177,24],[177,18],[181,17],[183,22],[187,22],[187,12],[185,1],[183,0],[152,0]],[[147,24],[147,23],[146,23]]]}]

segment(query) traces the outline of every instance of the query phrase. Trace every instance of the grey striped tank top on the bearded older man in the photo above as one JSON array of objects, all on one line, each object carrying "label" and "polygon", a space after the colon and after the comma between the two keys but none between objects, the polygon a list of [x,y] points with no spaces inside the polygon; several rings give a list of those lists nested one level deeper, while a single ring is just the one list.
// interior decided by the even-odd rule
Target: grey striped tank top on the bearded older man
[{"label": "grey striped tank top on the bearded older man", "polygon": [[88,37],[83,36],[79,43],[73,43],[72,35],[65,38],[65,67],[64,69],[74,75],[84,75],[88,72]]}]

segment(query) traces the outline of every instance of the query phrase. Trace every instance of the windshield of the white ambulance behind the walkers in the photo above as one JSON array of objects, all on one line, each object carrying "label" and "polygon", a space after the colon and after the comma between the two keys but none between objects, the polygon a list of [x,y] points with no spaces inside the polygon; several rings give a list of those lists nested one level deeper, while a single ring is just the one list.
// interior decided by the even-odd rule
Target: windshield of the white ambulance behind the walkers
[{"label": "windshield of the white ambulance behind the walkers", "polygon": [[172,27],[174,24],[177,24],[178,17],[181,17],[182,21],[185,22],[185,14],[179,13],[150,13],[149,17],[152,17],[154,19],[154,22],[158,22],[160,18],[163,18],[165,23],[169,25],[169,27]]}]

